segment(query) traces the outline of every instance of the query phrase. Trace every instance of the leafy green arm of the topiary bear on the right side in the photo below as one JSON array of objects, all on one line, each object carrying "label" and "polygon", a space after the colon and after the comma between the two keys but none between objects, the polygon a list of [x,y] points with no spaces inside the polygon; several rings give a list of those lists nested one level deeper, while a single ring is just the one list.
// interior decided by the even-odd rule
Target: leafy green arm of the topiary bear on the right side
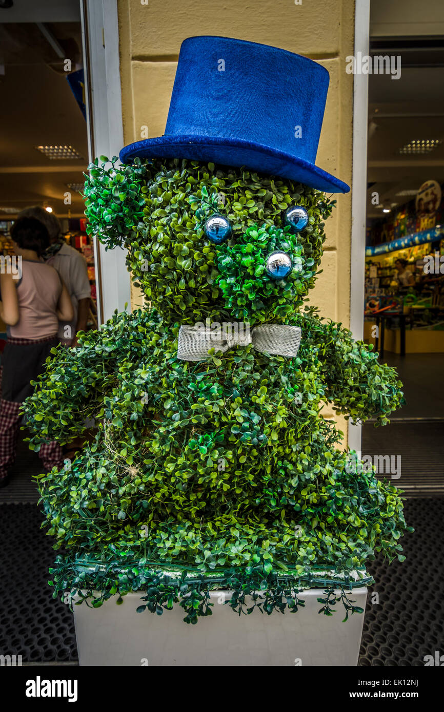
[{"label": "leafy green arm of the topiary bear on the right side", "polygon": [[353,340],[341,324],[306,313],[301,329],[304,348],[318,350],[326,399],[337,414],[355,422],[388,423],[388,415],[404,402],[396,369],[378,362],[376,352]]}]

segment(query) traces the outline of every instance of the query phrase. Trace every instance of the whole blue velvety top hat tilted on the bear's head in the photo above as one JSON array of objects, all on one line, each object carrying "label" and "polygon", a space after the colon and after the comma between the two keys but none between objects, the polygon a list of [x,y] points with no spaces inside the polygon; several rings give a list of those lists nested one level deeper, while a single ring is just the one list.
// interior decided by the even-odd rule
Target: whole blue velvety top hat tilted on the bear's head
[{"label": "whole blue velvety top hat tilted on the bear's head", "polygon": [[125,146],[120,160],[212,161],[347,193],[314,164],[328,88],[328,71],[299,54],[190,37],[180,48],[165,135]]}]

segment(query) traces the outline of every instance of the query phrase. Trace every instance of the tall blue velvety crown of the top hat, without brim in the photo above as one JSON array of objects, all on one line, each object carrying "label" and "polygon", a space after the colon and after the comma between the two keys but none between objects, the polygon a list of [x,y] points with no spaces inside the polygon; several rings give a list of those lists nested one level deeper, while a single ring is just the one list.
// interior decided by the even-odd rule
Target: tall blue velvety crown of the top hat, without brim
[{"label": "tall blue velvety crown of the top hat, without brim", "polygon": [[190,37],[180,48],[165,136],[234,138],[314,163],[328,87],[327,70],[298,54]]}]

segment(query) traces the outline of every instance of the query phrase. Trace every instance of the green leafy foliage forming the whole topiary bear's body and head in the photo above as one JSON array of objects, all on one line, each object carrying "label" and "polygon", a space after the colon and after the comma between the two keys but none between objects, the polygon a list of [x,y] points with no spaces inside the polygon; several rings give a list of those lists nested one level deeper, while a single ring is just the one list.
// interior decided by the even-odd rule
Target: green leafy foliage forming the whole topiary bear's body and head
[{"label": "green leafy foliage forming the whole topiary bear's body and head", "polygon": [[[348,466],[320,412],[331,402],[354,422],[384,425],[403,394],[371,347],[304,305],[334,203],[242,169],[116,161],[90,166],[88,231],[128,248],[146,308],[55,349],[24,408],[36,450],[96,426],[72,463],[38,481],[48,533],[63,548],[54,595],[82,590],[98,606],[145,590],[140,611],[180,601],[194,623],[211,613],[212,588],[233,590],[240,614],[294,612],[298,592],[320,585],[324,614],[334,587],[346,617],[360,611],[346,591],[369,582],[366,562],[379,551],[403,559],[401,496],[372,468]],[[309,214],[296,233],[283,222],[294,204]],[[232,224],[222,245],[203,229],[215,212]],[[293,259],[279,281],[265,271],[276,249]],[[178,360],[180,325],[206,319],[299,325],[299,353],[249,345]]]}]

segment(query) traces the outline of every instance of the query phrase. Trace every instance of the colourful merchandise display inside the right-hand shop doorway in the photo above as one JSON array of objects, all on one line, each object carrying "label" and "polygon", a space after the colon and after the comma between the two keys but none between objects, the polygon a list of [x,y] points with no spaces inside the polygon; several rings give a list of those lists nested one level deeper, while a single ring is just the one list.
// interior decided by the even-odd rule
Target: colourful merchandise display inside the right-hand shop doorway
[{"label": "colourful merchandise display inside the right-hand shop doorway", "polygon": [[[413,334],[415,330],[444,328],[443,223],[442,187],[428,180],[415,199],[398,206],[387,219],[374,221],[367,231],[366,321],[372,322],[373,316],[383,310],[402,313],[406,317],[403,328],[408,329],[415,352],[432,348],[421,333],[417,337]],[[379,308],[375,309],[377,304]],[[391,327],[399,328],[399,323],[393,320]],[[444,342],[440,343],[444,350]],[[438,343],[433,350],[440,350]]]}]

